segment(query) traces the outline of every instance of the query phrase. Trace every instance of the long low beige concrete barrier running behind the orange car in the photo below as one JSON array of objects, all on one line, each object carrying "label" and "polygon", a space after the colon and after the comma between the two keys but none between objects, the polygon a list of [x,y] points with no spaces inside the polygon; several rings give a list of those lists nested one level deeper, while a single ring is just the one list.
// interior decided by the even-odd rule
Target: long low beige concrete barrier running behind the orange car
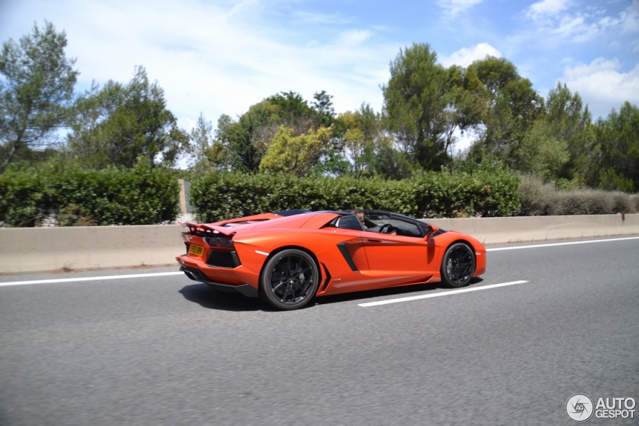
[{"label": "long low beige concrete barrier running behind the orange car", "polygon": [[[639,234],[637,215],[429,219],[484,244]],[[0,228],[0,273],[176,264],[180,225]]]}]

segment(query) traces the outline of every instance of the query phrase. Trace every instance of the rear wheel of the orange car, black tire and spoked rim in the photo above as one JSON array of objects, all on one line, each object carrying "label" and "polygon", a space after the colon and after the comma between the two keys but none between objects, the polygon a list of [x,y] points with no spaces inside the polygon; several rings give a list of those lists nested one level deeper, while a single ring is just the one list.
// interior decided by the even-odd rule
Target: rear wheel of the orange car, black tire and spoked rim
[{"label": "rear wheel of the orange car, black tire and spoked rim", "polygon": [[260,280],[261,298],[282,310],[304,307],[318,290],[319,271],[311,255],[282,250],[268,259]]}]

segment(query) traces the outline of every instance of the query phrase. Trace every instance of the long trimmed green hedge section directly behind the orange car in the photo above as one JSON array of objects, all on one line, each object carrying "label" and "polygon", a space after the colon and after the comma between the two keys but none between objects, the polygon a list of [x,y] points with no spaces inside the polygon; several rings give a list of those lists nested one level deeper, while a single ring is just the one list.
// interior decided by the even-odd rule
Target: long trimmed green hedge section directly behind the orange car
[{"label": "long trimmed green hedge section directly behind the orange car", "polygon": [[191,182],[201,222],[286,209],[369,208],[413,217],[510,216],[519,208],[518,178],[509,172],[424,172],[412,179],[217,173]]}]

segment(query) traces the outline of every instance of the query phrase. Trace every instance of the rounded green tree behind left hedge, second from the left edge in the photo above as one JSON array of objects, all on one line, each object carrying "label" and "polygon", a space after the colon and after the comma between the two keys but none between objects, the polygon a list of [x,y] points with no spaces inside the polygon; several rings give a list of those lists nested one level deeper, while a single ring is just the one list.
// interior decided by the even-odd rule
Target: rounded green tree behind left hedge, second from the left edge
[{"label": "rounded green tree behind left hedge, second from the left edge", "polygon": [[68,144],[89,167],[133,167],[139,156],[153,165],[173,166],[188,149],[189,135],[178,128],[166,109],[164,90],[149,81],[142,66],[126,85],[112,80],[102,89],[94,85],[75,107]]}]

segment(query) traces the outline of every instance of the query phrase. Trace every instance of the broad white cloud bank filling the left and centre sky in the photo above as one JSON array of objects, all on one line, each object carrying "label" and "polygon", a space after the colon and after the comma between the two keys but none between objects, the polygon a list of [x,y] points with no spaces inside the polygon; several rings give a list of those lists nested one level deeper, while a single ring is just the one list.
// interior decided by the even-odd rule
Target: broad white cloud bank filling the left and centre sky
[{"label": "broad white cloud bank filling the left and centre sky", "polygon": [[134,66],[142,65],[164,88],[167,105],[183,126],[192,126],[200,112],[215,125],[222,113],[235,117],[266,96],[289,90],[307,100],[326,90],[334,95],[337,112],[362,102],[380,110],[379,85],[388,80],[389,58],[397,54],[395,43],[375,44],[372,31],[348,24],[315,33],[319,41],[310,42],[309,33],[281,25],[277,19],[287,17],[274,19],[254,0],[166,0],[153,7],[144,1],[66,0],[54,6],[32,0],[16,8],[12,21],[33,25],[33,10],[65,29],[66,52],[77,57],[81,71],[79,87],[92,79],[128,82]]}]

